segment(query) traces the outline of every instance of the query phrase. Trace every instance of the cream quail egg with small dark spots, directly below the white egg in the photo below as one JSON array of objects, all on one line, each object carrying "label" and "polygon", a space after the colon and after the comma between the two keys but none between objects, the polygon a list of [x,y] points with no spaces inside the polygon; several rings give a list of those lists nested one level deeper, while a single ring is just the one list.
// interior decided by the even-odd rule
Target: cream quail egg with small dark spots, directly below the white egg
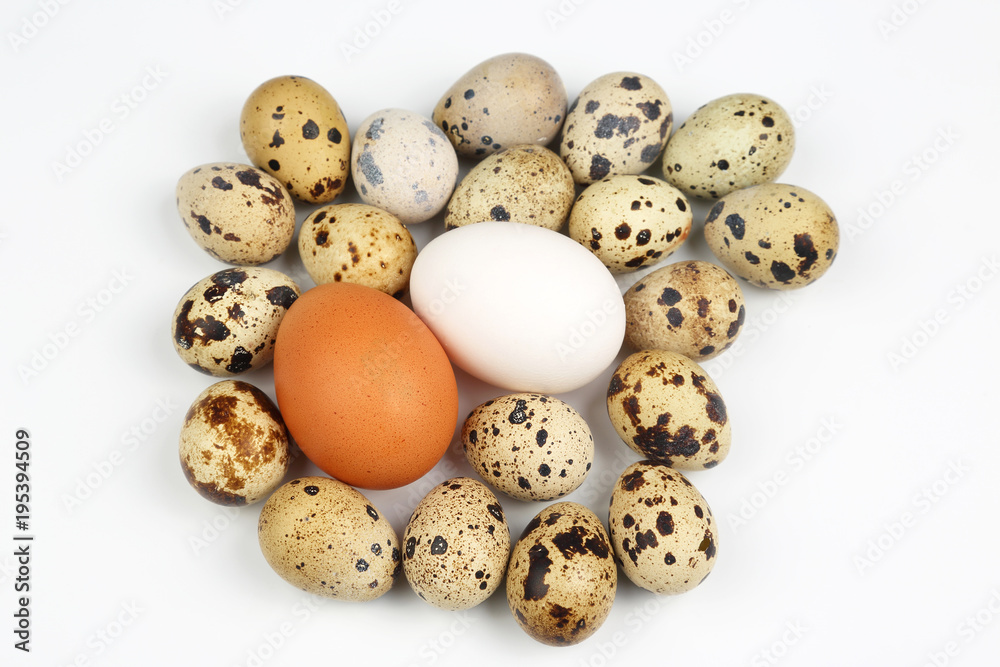
[{"label": "cream quail egg with small dark spots, directly below the white egg", "polygon": [[519,500],[554,500],[587,479],[594,436],[573,406],[542,394],[509,394],[476,407],[462,427],[469,465]]}]

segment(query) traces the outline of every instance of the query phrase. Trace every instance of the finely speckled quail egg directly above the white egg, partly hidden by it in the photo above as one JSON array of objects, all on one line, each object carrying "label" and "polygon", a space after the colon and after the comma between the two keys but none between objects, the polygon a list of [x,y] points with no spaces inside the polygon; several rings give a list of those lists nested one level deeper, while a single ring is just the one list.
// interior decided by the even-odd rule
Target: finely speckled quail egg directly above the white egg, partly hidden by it
[{"label": "finely speckled quail egg directly above the white egg, partly hidden by it", "polygon": [[472,168],[445,210],[446,229],[484,220],[523,222],[558,231],[576,188],[559,156],[540,146],[511,146]]}]

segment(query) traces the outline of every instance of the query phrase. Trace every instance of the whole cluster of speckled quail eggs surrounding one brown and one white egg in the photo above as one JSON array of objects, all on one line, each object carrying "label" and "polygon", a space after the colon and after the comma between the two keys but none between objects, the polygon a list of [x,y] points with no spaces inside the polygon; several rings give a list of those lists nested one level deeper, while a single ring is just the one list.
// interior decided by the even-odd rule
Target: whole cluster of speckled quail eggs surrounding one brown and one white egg
[{"label": "whole cluster of speckled quail eggs surrounding one brown and one white egg", "polygon": [[[775,182],[795,146],[776,102],[728,95],[674,130],[648,76],[605,74],[570,104],[551,65],[514,53],[462,75],[431,116],[383,109],[353,140],[334,97],[299,76],[254,90],[239,129],[250,164],[205,164],[177,184],[191,237],[231,266],[180,298],[173,343],[216,378],[273,361],[277,405],[216,382],[188,410],[179,455],[204,498],[266,500],[258,538],[278,575],[355,601],[402,575],[448,610],[506,580],[516,624],[555,646],[597,631],[619,571],[658,594],[708,576],[718,526],[681,471],[720,464],[732,429],[699,362],[746,321],[737,278],[799,288],[838,248],[829,207]],[[461,182],[459,160],[474,163]],[[332,203],[349,180],[363,203]],[[692,234],[689,198],[714,201],[704,239],[722,266],[665,265],[622,295],[615,275]],[[317,285],[305,291],[259,266],[292,244],[296,205],[314,206],[298,232]],[[443,233],[418,252],[407,225],[438,214]],[[512,539],[501,498],[554,501],[587,479],[593,433],[554,394],[608,371],[623,343],[635,352],[611,375],[607,414],[643,460],[621,471],[607,521],[560,501]],[[453,365],[499,394],[461,424]],[[400,538],[358,489],[421,478],[459,426],[479,479],[433,487]],[[295,445],[327,476],[286,482]]]}]

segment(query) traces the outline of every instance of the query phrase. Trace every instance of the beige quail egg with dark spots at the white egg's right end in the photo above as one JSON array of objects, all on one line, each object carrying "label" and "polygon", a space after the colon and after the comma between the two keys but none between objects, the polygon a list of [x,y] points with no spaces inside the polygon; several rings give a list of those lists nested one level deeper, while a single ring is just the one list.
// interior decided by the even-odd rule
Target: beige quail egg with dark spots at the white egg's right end
[{"label": "beige quail egg with dark spots at the white egg's right end", "polygon": [[625,293],[625,342],[637,350],[705,361],[728,350],[745,321],[739,282],[710,262],[669,264]]}]

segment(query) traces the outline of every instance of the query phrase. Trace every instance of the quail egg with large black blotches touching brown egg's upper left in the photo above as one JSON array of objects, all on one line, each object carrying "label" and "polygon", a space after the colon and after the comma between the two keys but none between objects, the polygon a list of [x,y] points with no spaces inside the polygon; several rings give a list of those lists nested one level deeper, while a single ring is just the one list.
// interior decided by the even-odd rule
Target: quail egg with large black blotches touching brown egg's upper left
[{"label": "quail egg with large black blotches touching brown egg's upper left", "polygon": [[274,357],[278,324],[299,294],[291,278],[273,269],[213,273],[174,309],[174,349],[186,364],[216,377],[260,368]]}]

